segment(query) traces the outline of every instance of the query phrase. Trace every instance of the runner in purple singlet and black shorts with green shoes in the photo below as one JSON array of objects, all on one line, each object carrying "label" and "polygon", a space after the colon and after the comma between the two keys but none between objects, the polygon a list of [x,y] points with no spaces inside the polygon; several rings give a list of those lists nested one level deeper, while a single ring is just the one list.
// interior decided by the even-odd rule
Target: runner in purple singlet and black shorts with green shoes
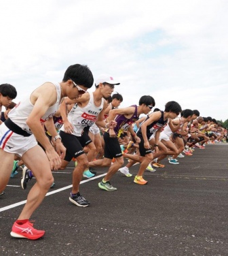
[{"label": "runner in purple singlet and black shorts with green shoes", "polygon": [[[109,171],[106,176],[98,183],[100,189],[106,191],[116,191],[117,188],[110,184],[112,176],[123,165],[123,155],[118,141],[118,136],[121,131],[128,129],[132,134],[132,138],[136,142],[140,142],[140,138],[136,135],[132,128],[132,123],[138,120],[140,114],[148,114],[155,106],[155,100],[149,95],[140,97],[139,106],[133,105],[128,108],[116,108],[109,112],[109,120],[117,122],[117,126],[114,129],[109,129],[104,132],[104,159],[99,159],[89,163],[89,167],[109,167]],[[112,159],[115,158],[113,165]]]}]

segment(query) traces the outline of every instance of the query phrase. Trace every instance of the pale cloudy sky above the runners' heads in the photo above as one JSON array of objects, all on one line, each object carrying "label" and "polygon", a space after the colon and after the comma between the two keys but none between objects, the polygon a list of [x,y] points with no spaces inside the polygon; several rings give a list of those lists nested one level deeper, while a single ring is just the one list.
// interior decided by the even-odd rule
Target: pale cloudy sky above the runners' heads
[{"label": "pale cloudy sky above the runners' heads", "polygon": [[[120,82],[120,107],[151,95],[228,119],[227,0],[2,0],[0,84],[18,103],[75,63]],[[94,91],[95,87],[89,91]]]}]

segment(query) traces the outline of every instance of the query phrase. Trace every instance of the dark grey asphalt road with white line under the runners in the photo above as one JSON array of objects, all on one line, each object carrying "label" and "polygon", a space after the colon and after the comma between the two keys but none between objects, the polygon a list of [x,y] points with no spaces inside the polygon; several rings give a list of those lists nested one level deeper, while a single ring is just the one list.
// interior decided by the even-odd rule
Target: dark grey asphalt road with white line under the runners
[{"label": "dark grey asphalt road with white line under the runners", "polygon": [[[107,168],[83,180],[86,208],[69,202],[73,162],[54,172],[56,187],[33,214],[44,229],[35,241],[10,236],[30,187],[20,188],[22,172],[0,196],[0,255],[228,255],[228,144],[195,148],[193,156],[167,160],[157,172],[145,172],[148,185],[117,173],[117,191],[98,188]],[[42,167],[42,163],[41,163]],[[130,172],[136,174],[138,165]],[[16,186],[16,187],[14,187]]]}]

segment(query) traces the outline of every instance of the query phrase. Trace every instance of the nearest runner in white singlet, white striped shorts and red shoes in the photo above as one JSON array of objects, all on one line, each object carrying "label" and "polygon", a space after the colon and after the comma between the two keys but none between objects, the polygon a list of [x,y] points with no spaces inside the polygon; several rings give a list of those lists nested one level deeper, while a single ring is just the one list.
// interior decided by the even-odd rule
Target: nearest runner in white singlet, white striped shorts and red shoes
[{"label": "nearest runner in white singlet, white striped shorts and red shoes", "polygon": [[[33,170],[37,181],[12,227],[11,236],[36,240],[45,234],[45,231],[35,229],[29,219],[54,181],[51,170],[58,170],[61,158],[64,158],[66,152],[54,127],[52,116],[58,110],[62,97],[75,99],[79,97],[79,93],[90,88],[93,82],[92,73],[86,65],[71,65],[62,82],[45,82],[39,86],[24,101],[18,103],[8,114],[7,121],[0,125],[0,191],[7,185],[16,154]],[[48,131],[54,136],[57,152],[45,135],[42,123],[45,123]],[[37,141],[45,148],[45,152],[37,145]]]}]

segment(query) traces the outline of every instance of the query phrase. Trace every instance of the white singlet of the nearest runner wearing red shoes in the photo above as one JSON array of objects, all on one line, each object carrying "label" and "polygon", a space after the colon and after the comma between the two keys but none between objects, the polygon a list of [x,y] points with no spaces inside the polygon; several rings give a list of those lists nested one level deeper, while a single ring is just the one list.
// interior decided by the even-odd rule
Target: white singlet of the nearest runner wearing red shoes
[{"label": "white singlet of the nearest runner wearing red shoes", "polygon": [[[40,118],[41,123],[45,123],[49,118],[52,118],[54,116],[55,112],[58,110],[58,107],[60,105],[61,101],[61,88],[60,84],[56,83],[54,84],[56,86],[57,91],[57,100],[56,103],[48,108],[47,112]],[[19,102],[15,108],[13,108],[9,114],[8,117],[11,119],[12,122],[16,123],[22,130],[26,131],[27,133],[32,133],[29,129],[29,126],[26,125],[26,120],[31,114],[32,110],[34,108],[34,105],[30,101],[30,95],[24,101]]]}]

